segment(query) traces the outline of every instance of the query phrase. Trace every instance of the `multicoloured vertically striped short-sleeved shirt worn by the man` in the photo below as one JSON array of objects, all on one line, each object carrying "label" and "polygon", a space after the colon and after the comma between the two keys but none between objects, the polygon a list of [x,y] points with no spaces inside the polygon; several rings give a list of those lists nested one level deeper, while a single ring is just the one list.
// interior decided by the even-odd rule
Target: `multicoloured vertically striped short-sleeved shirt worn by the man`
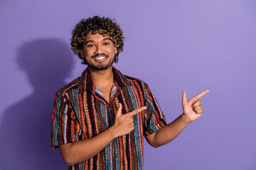
[{"label": "multicoloured vertically striped short-sleeved shirt worn by the man", "polygon": [[85,162],[68,169],[143,169],[143,135],[151,135],[166,125],[156,98],[144,81],[123,75],[113,67],[114,84],[110,103],[90,78],[88,69],[81,77],[60,89],[53,106],[51,147],[86,140],[107,130],[114,123],[118,103],[122,113],[142,106],[134,115],[134,130],[112,140],[105,149]]}]

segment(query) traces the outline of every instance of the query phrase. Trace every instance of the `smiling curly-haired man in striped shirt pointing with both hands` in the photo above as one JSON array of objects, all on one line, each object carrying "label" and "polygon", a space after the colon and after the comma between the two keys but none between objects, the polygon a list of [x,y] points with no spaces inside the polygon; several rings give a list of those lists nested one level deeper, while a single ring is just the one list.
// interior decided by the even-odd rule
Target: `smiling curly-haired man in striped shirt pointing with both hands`
[{"label": "smiling curly-haired man in striped shirt pointing with both hands", "polygon": [[165,145],[203,113],[198,98],[208,90],[189,101],[183,91],[183,114],[166,125],[149,86],[112,66],[123,39],[110,18],[82,19],[73,30],[72,50],[88,67],[58,91],[52,117],[52,147],[68,169],[143,169],[143,136]]}]

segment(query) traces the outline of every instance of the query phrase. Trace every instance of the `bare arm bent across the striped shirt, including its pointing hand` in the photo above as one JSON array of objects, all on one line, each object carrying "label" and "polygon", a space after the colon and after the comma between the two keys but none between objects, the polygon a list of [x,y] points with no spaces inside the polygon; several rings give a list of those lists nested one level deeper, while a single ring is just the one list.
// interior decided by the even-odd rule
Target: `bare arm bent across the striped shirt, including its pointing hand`
[{"label": "bare arm bent across the striped shirt, including its pointing hand", "polygon": [[90,159],[109,145],[115,137],[126,135],[134,130],[133,116],[145,109],[146,107],[137,108],[130,113],[122,115],[122,105],[119,103],[117,113],[114,117],[114,125],[112,125],[112,127],[90,139],[59,146],[60,153],[65,163],[70,166]]}]

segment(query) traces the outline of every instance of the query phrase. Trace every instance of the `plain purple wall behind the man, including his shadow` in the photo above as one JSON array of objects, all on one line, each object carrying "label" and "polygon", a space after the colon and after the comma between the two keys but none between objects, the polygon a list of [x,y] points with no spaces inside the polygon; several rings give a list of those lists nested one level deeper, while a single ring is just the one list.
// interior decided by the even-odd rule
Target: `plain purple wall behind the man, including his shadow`
[{"label": "plain purple wall behind the man, including his shadow", "polygon": [[1,169],[66,169],[50,149],[55,92],[85,66],[70,50],[80,18],[115,18],[126,41],[124,74],[149,84],[170,123],[181,94],[203,96],[204,114],[176,140],[144,142],[145,169],[256,169],[256,2],[0,2]]}]

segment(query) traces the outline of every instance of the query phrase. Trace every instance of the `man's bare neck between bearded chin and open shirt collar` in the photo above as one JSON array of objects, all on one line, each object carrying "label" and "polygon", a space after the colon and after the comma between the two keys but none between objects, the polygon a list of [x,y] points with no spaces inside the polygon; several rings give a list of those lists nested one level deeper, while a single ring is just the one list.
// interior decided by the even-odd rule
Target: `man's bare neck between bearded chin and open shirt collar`
[{"label": "man's bare neck between bearded chin and open shirt collar", "polygon": [[103,70],[96,70],[88,67],[89,74],[92,79],[92,82],[95,84],[95,86],[105,86],[107,84],[113,84],[114,83],[114,74],[112,71],[112,66],[108,69]]}]

